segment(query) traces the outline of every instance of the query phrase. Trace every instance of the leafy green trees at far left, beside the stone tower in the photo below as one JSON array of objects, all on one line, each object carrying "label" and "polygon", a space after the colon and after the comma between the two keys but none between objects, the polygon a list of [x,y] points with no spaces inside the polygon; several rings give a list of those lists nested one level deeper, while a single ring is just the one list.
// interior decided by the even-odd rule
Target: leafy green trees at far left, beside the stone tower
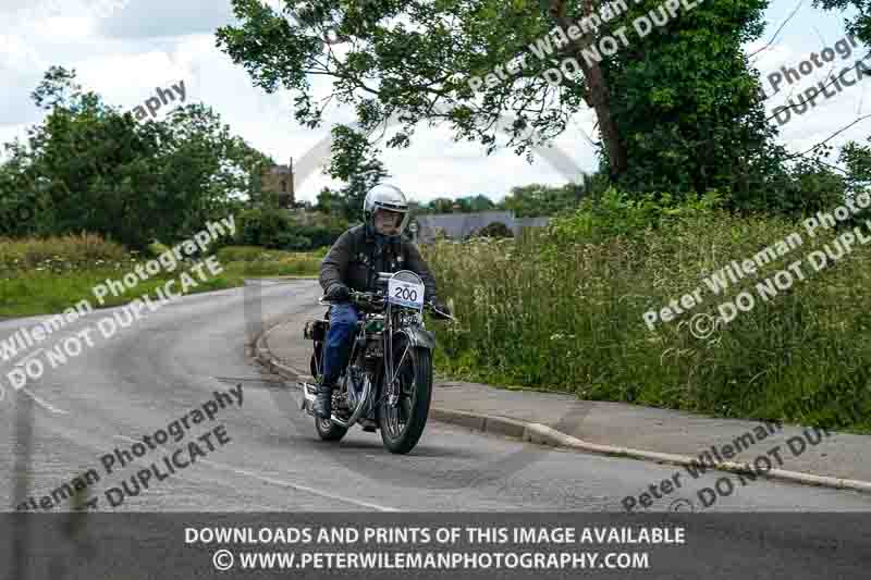
[{"label": "leafy green trees at far left, beside the stone tower", "polygon": [[138,123],[83,94],[74,72],[51,67],[34,92],[49,110],[0,165],[5,235],[93,232],[131,248],[168,244],[240,207],[268,161],[201,104]]}]

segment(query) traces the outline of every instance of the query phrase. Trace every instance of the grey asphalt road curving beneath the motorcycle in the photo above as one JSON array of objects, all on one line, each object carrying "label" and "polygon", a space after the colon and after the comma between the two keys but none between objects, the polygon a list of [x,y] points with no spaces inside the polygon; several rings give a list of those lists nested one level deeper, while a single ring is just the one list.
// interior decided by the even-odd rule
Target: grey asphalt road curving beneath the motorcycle
[{"label": "grey asphalt road curving beneath the motorcycle", "polygon": [[[0,502],[14,509],[34,496],[38,504],[94,469],[100,480],[87,485],[83,497],[96,498],[97,508],[110,513],[617,513],[624,496],[675,471],[674,466],[547,449],[434,421],[407,456],[387,453],[377,433],[358,429],[339,445],[321,442],[312,419],[296,407],[296,392],[263,373],[246,349],[246,336],[249,341],[263,321],[310,307],[316,295],[314,282],[298,281],[186,297],[110,340],[95,341],[66,365],[47,369],[26,392],[13,392],[5,379],[13,362],[0,366],[7,390],[0,400]],[[47,344],[110,313],[94,312]],[[0,340],[35,321],[1,322]],[[147,469],[175,448],[188,453],[188,442],[211,430],[210,445],[199,440],[204,453],[193,464],[110,505],[106,491],[125,479],[132,486],[136,469],[108,474],[101,462],[106,454],[132,449],[144,435],[216,400],[216,391],[230,393],[238,384],[241,406],[216,409],[214,420],[194,424],[192,419],[183,441],[135,460],[136,469]],[[224,443],[217,442],[216,428],[222,428]],[[118,503],[118,493],[114,497]],[[757,481],[710,509],[717,510],[870,511],[871,496]],[[694,550],[723,556],[732,545],[736,557],[748,550],[722,539],[706,542]]]}]

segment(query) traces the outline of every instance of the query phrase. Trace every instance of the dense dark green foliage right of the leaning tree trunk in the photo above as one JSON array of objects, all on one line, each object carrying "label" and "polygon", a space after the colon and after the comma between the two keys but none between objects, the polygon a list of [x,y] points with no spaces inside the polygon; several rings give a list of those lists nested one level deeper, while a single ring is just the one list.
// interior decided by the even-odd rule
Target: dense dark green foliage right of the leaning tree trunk
[{"label": "dense dark green foliage right of the leaning tree trunk", "polygon": [[[630,26],[660,4],[633,3],[610,27]],[[744,49],[761,35],[766,7],[737,0],[682,9],[662,33],[634,39],[608,61],[612,112],[629,159],[622,188],[727,194],[735,174],[759,180],[771,169],[775,129]]]}]

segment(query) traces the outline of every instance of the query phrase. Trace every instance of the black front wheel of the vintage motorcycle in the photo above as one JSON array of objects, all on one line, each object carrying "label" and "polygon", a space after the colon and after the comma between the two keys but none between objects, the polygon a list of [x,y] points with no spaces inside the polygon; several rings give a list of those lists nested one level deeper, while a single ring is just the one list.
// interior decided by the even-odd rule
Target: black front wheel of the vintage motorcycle
[{"label": "black front wheel of the vintage motorcycle", "polygon": [[[378,409],[378,421],[381,441],[388,451],[405,454],[417,445],[427,424],[432,398],[432,357],[429,349],[407,345],[404,341],[397,341],[394,348],[394,365],[401,365],[394,368],[398,404],[391,407],[384,396]],[[382,395],[387,392],[385,384]]]}]

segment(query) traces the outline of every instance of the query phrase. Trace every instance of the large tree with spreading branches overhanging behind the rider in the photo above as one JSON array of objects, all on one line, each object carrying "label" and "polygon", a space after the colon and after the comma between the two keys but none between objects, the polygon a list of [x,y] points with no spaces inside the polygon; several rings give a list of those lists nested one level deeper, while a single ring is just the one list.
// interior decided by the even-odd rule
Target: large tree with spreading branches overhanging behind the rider
[{"label": "large tree with spreading branches overhanging behind the rider", "polygon": [[[557,46],[549,36],[556,24],[571,29],[601,12],[602,3],[286,0],[289,9],[299,9],[296,25],[259,2],[233,0],[241,24],[219,28],[217,37],[257,86],[295,92],[296,118],[308,126],[317,126],[323,112],[310,76],[332,78],[330,99],[322,102],[354,106],[367,137],[398,115],[402,127],[390,147],[407,147],[420,121],[447,121],[457,138],[492,152],[496,123],[511,114],[507,146],[530,155],[530,145],[562,133],[586,103],[596,111],[602,166],[612,180],[640,190],[728,185],[723,168],[741,160],[752,165],[770,138],[764,110],[753,100],[758,77],[743,51],[762,32],[766,1],[682,10],[643,38],[631,23],[659,10],[661,0],[626,4],[624,13],[600,23],[596,38],[584,34]],[[601,61],[581,57],[590,41],[598,46],[621,27],[630,35],[627,47]],[[328,29],[344,41],[342,50],[321,41]],[[529,54],[530,45],[541,58]],[[524,66],[508,76],[505,63],[524,54]],[[580,73],[550,84],[542,73],[566,58],[576,59]],[[469,83],[476,77],[488,78],[478,90]],[[661,177],[659,168],[667,170]]]}]

